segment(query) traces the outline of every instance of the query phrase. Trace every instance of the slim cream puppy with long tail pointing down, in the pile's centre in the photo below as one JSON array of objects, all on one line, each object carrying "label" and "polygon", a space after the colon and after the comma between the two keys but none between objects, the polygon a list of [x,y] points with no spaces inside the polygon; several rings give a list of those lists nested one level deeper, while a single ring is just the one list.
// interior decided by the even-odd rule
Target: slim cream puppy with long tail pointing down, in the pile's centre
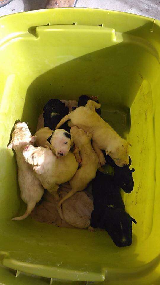
[{"label": "slim cream puppy with long tail pointing down, in the pile's centre", "polygon": [[84,190],[89,182],[95,178],[97,168],[99,167],[97,154],[93,150],[90,142],[92,135],[89,133],[86,134],[76,126],[71,128],[71,135],[75,144],[74,153],[78,154],[80,152],[82,162],[81,167],[69,181],[72,188],[71,191],[60,200],[59,206],[74,193]]}]

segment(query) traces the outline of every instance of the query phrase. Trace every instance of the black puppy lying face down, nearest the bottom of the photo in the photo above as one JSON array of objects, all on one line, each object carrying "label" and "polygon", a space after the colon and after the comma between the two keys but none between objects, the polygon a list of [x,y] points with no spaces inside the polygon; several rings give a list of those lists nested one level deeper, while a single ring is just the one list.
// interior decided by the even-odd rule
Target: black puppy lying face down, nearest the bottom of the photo
[{"label": "black puppy lying face down, nearest the bottom of the photo", "polygon": [[94,210],[91,214],[91,227],[105,229],[116,246],[130,246],[132,243],[132,221],[125,211],[119,187],[110,175],[97,171],[92,181]]}]

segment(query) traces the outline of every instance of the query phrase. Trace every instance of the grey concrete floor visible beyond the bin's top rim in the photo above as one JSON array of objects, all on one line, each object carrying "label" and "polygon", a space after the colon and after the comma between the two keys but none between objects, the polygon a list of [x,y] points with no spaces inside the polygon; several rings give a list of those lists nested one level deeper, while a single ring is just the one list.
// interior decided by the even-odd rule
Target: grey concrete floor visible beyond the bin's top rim
[{"label": "grey concrete floor visible beyond the bin's top rim", "polygon": [[[0,16],[44,9],[47,0],[13,0],[0,8]],[[117,10],[148,16],[160,20],[160,0],[78,0],[76,7],[91,7]]]}]

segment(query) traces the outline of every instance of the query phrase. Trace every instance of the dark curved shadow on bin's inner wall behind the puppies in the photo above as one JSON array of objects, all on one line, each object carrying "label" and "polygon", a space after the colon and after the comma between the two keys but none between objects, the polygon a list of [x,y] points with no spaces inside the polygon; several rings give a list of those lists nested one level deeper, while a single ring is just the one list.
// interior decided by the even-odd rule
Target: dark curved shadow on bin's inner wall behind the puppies
[{"label": "dark curved shadow on bin's inner wall behind the puppies", "polygon": [[[151,26],[152,23],[144,25],[143,32],[150,31]],[[82,94],[87,94],[98,96],[102,106],[105,104],[106,108],[112,107],[127,114],[129,132],[129,108],[143,82],[141,62],[144,54],[148,53],[148,42],[141,40],[138,44],[137,33],[141,35],[140,28],[133,30],[130,38],[129,31],[124,33],[121,43],[71,60],[66,55],[65,62],[59,65],[57,55],[57,63],[53,63],[57,66],[38,76],[27,89],[22,120],[29,122],[31,131],[36,130],[38,115],[49,99],[77,100]],[[157,63],[159,60],[153,48],[149,54],[148,63],[146,60],[148,68],[153,58]]]}]

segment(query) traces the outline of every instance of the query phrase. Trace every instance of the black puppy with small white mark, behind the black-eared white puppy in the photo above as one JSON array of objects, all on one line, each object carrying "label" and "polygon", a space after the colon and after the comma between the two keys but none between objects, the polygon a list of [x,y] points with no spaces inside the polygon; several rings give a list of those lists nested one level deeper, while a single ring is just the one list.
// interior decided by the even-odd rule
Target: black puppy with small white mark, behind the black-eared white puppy
[{"label": "black puppy with small white mark, behind the black-eared white puppy", "polygon": [[[62,103],[59,99],[51,99],[47,102],[43,109],[44,127],[48,127],[51,130],[55,130],[55,127],[60,122],[60,120],[69,114],[68,107]],[[61,129],[70,132],[70,127],[68,127],[67,122],[65,122]]]}]

